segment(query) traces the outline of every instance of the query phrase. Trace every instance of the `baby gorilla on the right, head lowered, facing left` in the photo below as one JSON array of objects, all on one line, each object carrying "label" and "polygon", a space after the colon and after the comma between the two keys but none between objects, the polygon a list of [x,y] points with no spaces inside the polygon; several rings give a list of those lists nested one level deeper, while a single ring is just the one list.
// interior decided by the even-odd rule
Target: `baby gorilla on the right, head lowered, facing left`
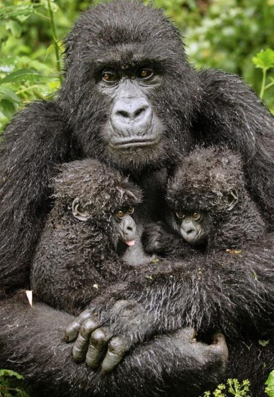
[{"label": "baby gorilla on the right, head lowered, facing left", "polygon": [[167,225],[147,227],[142,237],[145,250],[187,257],[241,249],[262,237],[266,226],[244,181],[238,155],[226,149],[196,148],[169,179]]}]

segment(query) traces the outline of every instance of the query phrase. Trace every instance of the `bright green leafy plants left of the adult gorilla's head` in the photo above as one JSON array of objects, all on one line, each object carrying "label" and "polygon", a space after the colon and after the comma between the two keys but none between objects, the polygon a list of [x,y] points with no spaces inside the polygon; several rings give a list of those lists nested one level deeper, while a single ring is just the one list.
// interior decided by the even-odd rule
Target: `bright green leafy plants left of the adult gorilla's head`
[{"label": "bright green leafy plants left of the adult gorilla's head", "polygon": [[[3,53],[0,57],[0,126],[30,100],[54,98],[62,80],[59,55],[61,45],[57,40],[54,21],[58,6],[52,0],[13,2],[13,5],[0,7],[0,48]],[[18,40],[24,33],[24,24],[31,17],[46,21],[51,28],[53,44],[34,52],[21,47],[21,53],[18,54],[17,48],[15,55],[9,55],[13,52],[9,49],[13,48],[14,40],[18,45]],[[42,62],[53,49],[56,56],[55,74],[52,73],[52,62]]]}]

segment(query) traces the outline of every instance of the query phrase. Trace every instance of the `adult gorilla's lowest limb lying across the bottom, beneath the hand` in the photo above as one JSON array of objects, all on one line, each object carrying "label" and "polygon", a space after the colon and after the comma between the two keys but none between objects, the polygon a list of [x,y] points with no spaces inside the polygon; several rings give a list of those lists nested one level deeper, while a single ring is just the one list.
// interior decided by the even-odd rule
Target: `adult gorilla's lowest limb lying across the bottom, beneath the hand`
[{"label": "adult gorilla's lowest limb lying across the bottom, beneath the hand", "polygon": [[71,345],[62,341],[71,315],[30,307],[22,292],[0,305],[0,318],[0,368],[22,373],[35,396],[58,390],[59,397],[120,397],[121,391],[123,397],[196,397],[220,381],[227,356],[222,336],[209,346],[187,328],[138,346],[114,373],[102,375],[71,359]]}]

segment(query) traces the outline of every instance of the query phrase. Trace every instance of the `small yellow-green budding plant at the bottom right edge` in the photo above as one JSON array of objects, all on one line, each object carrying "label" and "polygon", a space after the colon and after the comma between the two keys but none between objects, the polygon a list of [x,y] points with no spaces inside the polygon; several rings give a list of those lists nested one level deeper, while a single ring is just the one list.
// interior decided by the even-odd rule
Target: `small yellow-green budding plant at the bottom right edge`
[{"label": "small yellow-green budding plant at the bottom right edge", "polygon": [[250,397],[249,395],[249,380],[244,380],[242,383],[238,379],[228,379],[226,385],[218,385],[213,392],[205,392],[203,397]]}]

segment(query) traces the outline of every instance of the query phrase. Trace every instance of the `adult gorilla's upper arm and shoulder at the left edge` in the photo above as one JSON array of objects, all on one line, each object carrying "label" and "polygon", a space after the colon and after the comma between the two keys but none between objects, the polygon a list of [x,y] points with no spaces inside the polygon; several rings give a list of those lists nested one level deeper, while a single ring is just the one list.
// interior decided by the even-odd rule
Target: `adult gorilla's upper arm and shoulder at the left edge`
[{"label": "adult gorilla's upper arm and shoulder at the left edge", "polygon": [[57,102],[34,102],[5,128],[0,145],[0,285],[29,283],[27,266],[47,210],[48,180],[69,139]]}]

